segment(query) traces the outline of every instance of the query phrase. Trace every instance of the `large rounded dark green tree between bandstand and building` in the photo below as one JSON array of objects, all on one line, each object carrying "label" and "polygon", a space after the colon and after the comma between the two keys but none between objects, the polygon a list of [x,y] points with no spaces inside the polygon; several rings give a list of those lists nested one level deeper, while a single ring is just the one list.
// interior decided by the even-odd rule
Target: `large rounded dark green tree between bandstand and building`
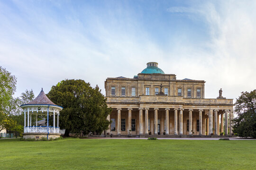
[{"label": "large rounded dark green tree between bandstand and building", "polygon": [[63,80],[52,86],[47,97],[55,104],[62,106],[59,125],[69,133],[101,133],[110,125],[107,116],[112,109],[108,108],[106,99],[99,88],[92,88],[83,80]]}]

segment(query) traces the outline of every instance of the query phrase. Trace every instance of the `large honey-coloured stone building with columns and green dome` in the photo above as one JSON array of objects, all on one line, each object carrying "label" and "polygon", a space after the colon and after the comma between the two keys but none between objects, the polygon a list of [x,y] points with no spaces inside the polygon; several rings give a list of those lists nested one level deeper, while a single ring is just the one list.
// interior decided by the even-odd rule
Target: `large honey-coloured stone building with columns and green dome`
[{"label": "large honey-coloured stone building with columns and green dome", "polygon": [[221,90],[216,99],[205,99],[204,80],[177,80],[176,75],[158,68],[157,62],[146,66],[133,78],[106,79],[107,104],[113,109],[107,118],[112,120],[107,133],[232,135],[233,99],[222,97]]}]

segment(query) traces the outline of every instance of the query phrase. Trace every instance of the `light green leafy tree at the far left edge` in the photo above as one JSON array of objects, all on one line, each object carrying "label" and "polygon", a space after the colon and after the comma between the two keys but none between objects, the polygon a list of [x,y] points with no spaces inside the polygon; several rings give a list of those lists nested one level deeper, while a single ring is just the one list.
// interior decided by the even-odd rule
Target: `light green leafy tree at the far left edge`
[{"label": "light green leafy tree at the far left edge", "polygon": [[3,123],[8,116],[7,110],[16,91],[16,82],[16,77],[0,66],[0,130],[4,128]]}]

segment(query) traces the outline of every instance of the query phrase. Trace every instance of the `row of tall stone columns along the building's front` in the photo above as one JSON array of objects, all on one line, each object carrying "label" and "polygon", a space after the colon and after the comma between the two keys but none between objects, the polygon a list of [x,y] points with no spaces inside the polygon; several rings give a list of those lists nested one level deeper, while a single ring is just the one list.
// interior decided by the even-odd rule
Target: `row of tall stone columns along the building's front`
[{"label": "row of tall stone columns along the building's front", "polygon": [[[117,108],[117,135],[121,134],[121,108]],[[128,128],[127,128],[127,134],[129,134],[129,130],[131,129],[131,113],[132,108],[128,108]],[[145,128],[143,131],[143,110],[145,110]],[[157,116],[158,116],[158,110],[159,108],[154,108],[154,134],[158,134],[158,127],[157,127]],[[169,135],[169,110],[170,108],[165,108],[165,134]],[[174,135],[183,135],[183,108],[174,108]],[[138,108],[138,123],[139,123],[139,135],[148,135],[148,111],[149,108]],[[198,114],[199,116],[199,135],[205,135],[202,131],[202,119],[203,119],[203,111],[205,111],[205,119],[204,119],[204,125],[205,125],[205,131],[207,131],[208,135],[211,135],[214,133],[214,135],[219,135],[219,115],[220,115],[220,132],[223,132],[223,112],[219,110],[202,110],[199,109],[198,112],[193,112],[193,109],[188,109],[189,111],[189,135],[192,135],[192,114]],[[225,110],[225,135],[228,135],[228,129],[229,135],[232,134],[232,126],[231,123],[229,123],[228,126],[228,120],[233,119],[233,110]],[[228,118],[229,114],[229,118]],[[213,119],[214,117],[214,119]],[[108,120],[110,120],[110,115],[107,117]],[[179,121],[179,122],[178,122]],[[179,125],[179,126],[178,126]],[[179,127],[179,129],[178,129]],[[207,129],[207,130],[206,130]],[[107,133],[110,132],[110,128],[107,130]]]}]

